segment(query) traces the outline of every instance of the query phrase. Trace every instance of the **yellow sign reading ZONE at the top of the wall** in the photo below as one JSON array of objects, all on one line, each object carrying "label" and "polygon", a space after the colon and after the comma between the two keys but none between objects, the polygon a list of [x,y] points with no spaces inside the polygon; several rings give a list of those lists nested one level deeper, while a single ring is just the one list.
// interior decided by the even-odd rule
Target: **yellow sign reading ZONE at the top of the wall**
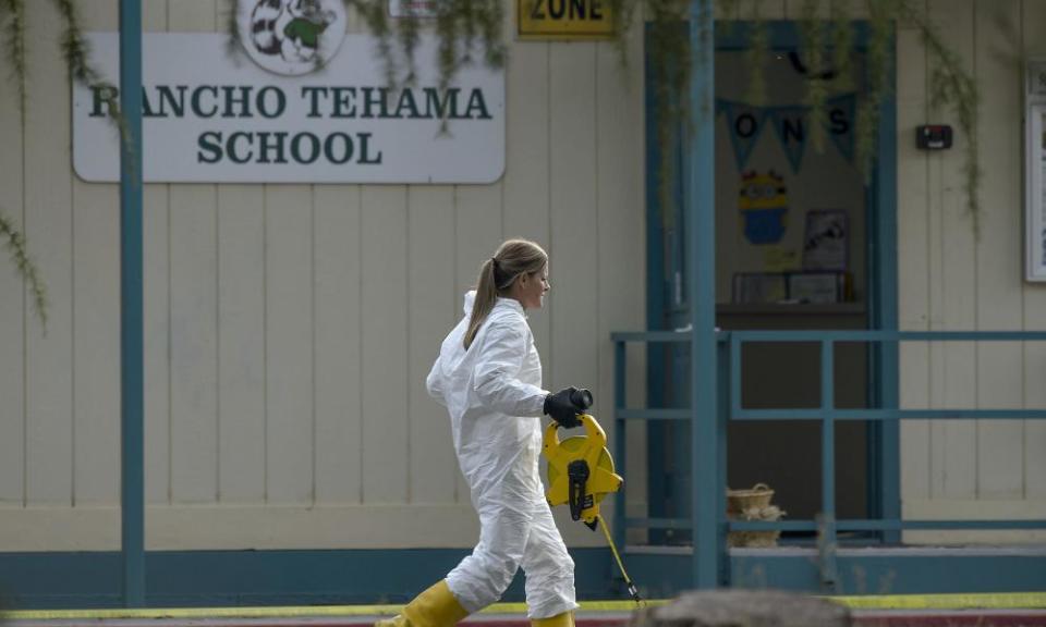
[{"label": "yellow sign reading ZONE at the top of the wall", "polygon": [[521,39],[604,39],[613,36],[608,0],[515,0]]}]

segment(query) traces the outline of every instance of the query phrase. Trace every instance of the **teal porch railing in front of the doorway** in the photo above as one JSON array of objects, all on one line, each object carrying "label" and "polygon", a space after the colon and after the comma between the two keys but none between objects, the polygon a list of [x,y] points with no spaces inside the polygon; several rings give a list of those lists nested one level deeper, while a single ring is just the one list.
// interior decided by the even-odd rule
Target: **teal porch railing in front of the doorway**
[{"label": "teal porch railing in front of the doorway", "polygon": [[[692,409],[630,408],[627,397],[627,345],[629,343],[679,343],[689,344],[689,332],[628,332],[612,333],[615,343],[615,425],[624,426],[628,420],[694,420]],[[992,520],[905,520],[902,517],[881,517],[875,519],[836,519],[836,480],[835,480],[835,422],[839,420],[1030,420],[1046,419],[1046,408],[1042,409],[901,409],[898,407],[840,408],[835,401],[835,345],[840,342],[864,342],[896,346],[901,342],[1043,342],[1046,332],[1026,331],[726,331],[717,333],[719,346],[719,397],[716,417],[719,429],[726,429],[728,420],[819,420],[822,423],[820,457],[820,515],[817,520],[776,520],[741,521],[728,520],[726,503],[717,512],[705,515],[715,516],[715,525],[726,531],[816,531],[818,545],[829,548],[822,551],[822,571],[831,578],[836,570],[835,550],[839,531],[900,531],[914,529],[939,530],[998,530],[998,529],[1046,529],[1046,520],[1034,519],[992,519]],[[820,346],[820,403],[815,407],[788,409],[746,409],[741,403],[742,351],[745,343],[817,343]],[[691,360],[693,367],[693,359]],[[899,367],[899,365],[898,365]],[[620,432],[620,431],[619,431]],[[726,439],[720,433],[719,467],[726,468]],[[624,438],[616,438],[616,459],[624,464]],[[897,460],[899,463],[899,459]],[[713,478],[715,479],[715,478]],[[721,478],[722,481],[726,477]],[[716,482],[704,481],[694,476],[694,489],[717,489]],[[646,529],[693,529],[691,518],[629,518],[624,513],[624,495],[619,493],[615,511],[616,529],[621,541],[628,528]],[[723,542],[719,551],[726,553]]]}]

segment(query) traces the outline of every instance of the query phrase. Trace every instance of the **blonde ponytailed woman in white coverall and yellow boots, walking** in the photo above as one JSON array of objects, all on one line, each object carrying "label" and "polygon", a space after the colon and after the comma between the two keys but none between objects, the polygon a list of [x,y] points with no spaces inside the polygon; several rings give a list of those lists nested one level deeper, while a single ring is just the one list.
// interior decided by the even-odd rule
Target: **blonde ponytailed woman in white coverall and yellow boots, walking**
[{"label": "blonde ponytailed woman in white coverall and yellow boots, walking", "polygon": [[525,239],[504,242],[465,295],[465,316],[447,335],[428,374],[447,407],[454,451],[479,514],[472,554],[403,613],[378,627],[451,627],[494,603],[521,566],[535,627],[571,627],[574,563],[552,520],[538,474],[540,416],[579,423],[574,388],[542,389],[542,364],[524,311],[542,307],[548,256]]}]

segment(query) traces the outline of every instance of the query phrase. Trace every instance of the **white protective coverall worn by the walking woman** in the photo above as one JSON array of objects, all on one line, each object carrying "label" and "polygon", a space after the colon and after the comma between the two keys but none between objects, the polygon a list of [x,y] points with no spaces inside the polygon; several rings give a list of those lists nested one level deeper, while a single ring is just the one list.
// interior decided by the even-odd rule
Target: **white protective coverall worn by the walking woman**
[{"label": "white protective coverall worn by the walking woman", "polygon": [[479,514],[479,543],[447,575],[470,613],[496,602],[516,569],[526,574],[527,616],[577,608],[574,562],[552,520],[538,472],[542,452],[542,362],[523,307],[498,298],[469,351],[475,292],[465,316],[443,340],[426,380],[450,413],[458,462]]}]

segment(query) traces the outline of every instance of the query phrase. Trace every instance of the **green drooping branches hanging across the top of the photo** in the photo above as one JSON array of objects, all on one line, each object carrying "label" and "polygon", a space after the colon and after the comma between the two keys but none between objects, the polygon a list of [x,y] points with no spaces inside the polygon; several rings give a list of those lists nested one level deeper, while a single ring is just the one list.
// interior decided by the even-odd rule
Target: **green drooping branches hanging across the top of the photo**
[{"label": "green drooping branches hanging across the top of the photo", "polygon": [[[80,28],[74,0],[51,0],[63,23],[62,51],[71,77],[90,83],[98,77],[89,61],[89,53]],[[229,12],[230,49],[238,47],[235,25],[240,4],[250,0],[224,0]],[[279,2],[281,0],[270,0]],[[285,1],[285,0],[283,0]],[[377,38],[378,54],[390,85],[411,84],[416,79],[415,52],[421,34],[431,30],[438,46],[438,83],[451,84],[457,73],[471,63],[502,67],[508,57],[503,40],[506,7],[510,0],[439,0],[435,17],[408,14],[392,21],[388,16],[388,0],[343,0],[345,7],[361,17]],[[653,85],[665,114],[660,116],[658,135],[662,146],[670,145],[677,130],[689,133],[689,79],[692,65],[690,36],[684,24],[690,16],[690,0],[606,0],[616,26],[616,41],[624,62],[624,45],[630,28],[640,20],[649,24],[652,36],[646,53],[654,69]],[[720,13],[739,16],[750,22],[746,53],[750,72],[747,100],[758,104],[766,99],[764,65],[769,51],[769,34],[764,20],[764,0],[715,0]],[[851,20],[851,0],[803,0],[801,5],[801,53],[807,70],[814,75],[831,75],[830,79],[807,81],[803,104],[813,115],[824,112],[826,98],[834,90],[853,81],[854,23]],[[973,231],[980,233],[978,188],[981,169],[977,148],[977,89],[959,56],[944,42],[928,16],[912,0],[865,0],[869,24],[865,50],[865,89],[859,100],[855,120],[856,161],[865,174],[876,153],[878,111],[889,96],[889,72],[892,64],[893,28],[898,23],[911,25],[922,36],[933,62],[931,97],[938,106],[949,108],[956,115],[965,143],[966,206]],[[725,27],[730,27],[729,23]],[[25,110],[25,0],[0,0],[0,32],[3,49],[14,70],[14,81],[23,115]],[[714,114],[714,112],[704,112]],[[119,112],[115,112],[118,123]],[[824,137],[818,124],[812,124],[812,142],[822,148]],[[667,151],[660,167],[662,204],[671,202],[668,182],[671,164]],[[26,276],[28,280],[28,275]]]}]

